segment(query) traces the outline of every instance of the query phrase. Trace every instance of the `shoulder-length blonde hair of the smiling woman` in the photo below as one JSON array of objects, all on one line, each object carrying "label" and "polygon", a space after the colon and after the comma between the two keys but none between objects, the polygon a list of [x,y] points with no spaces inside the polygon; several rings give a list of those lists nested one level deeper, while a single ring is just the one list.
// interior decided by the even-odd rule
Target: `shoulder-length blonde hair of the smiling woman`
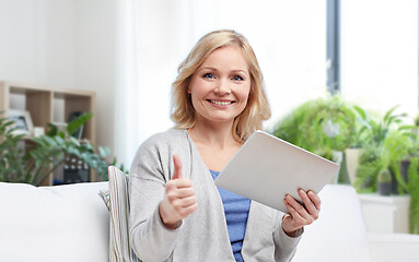
[{"label": "shoulder-length blonde hair of the smiling woman", "polygon": [[172,84],[171,119],[177,129],[188,129],[195,126],[196,111],[188,94],[191,75],[218,48],[236,45],[244,55],[251,74],[251,92],[245,109],[234,119],[233,136],[238,142],[257,129],[263,128],[263,121],[270,118],[270,108],[264,90],[264,79],[247,39],[234,31],[214,31],[202,36],[177,69],[177,78]]}]

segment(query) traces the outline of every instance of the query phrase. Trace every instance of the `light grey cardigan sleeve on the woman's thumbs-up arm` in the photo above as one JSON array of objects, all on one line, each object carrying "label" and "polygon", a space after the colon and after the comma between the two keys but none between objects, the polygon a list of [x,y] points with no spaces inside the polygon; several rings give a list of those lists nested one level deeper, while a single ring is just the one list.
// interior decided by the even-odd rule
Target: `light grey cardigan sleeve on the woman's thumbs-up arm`
[{"label": "light grey cardigan sleeve on the woman's thumbs-up arm", "polygon": [[172,152],[155,139],[146,141],[137,152],[130,169],[130,241],[143,261],[165,261],[174,250],[181,230],[167,229],[160,217],[159,204],[171,177]]}]

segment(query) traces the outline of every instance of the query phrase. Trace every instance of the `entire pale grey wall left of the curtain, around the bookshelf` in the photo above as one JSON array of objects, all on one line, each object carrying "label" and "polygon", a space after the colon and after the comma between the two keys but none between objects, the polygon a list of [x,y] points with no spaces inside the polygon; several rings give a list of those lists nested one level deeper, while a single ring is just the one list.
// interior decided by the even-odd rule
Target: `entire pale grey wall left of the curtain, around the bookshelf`
[{"label": "entire pale grey wall left of the curtain, around the bookshelf", "polygon": [[96,92],[96,145],[114,148],[115,0],[0,0],[0,80]]}]

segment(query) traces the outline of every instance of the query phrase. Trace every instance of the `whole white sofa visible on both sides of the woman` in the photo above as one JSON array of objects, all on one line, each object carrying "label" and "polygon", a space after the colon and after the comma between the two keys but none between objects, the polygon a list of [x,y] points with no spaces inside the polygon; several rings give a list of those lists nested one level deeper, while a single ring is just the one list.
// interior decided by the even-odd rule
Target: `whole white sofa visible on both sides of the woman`
[{"label": "whole white sofa visible on both sides of the woman", "polygon": [[[0,261],[108,261],[107,182],[35,188],[0,182]],[[321,218],[305,228],[294,262],[419,261],[419,236],[369,235],[348,186],[321,192]]]}]

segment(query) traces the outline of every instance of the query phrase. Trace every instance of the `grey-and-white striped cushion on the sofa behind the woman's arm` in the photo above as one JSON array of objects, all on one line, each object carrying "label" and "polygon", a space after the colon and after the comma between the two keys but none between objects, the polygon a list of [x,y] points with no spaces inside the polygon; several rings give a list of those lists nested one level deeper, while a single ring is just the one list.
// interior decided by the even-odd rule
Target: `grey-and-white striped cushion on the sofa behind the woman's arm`
[{"label": "grey-and-white striped cushion on the sofa behind the woman's arm", "polygon": [[109,176],[109,261],[140,262],[129,242],[128,177],[114,166]]}]

